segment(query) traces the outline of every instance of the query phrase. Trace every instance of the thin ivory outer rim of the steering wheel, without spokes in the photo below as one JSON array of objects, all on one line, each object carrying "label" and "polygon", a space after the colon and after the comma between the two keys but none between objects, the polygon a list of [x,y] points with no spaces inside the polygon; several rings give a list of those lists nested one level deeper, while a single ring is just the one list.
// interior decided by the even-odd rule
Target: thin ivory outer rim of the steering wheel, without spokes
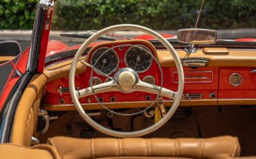
[{"label": "thin ivory outer rim of the steering wheel, without spokes", "polygon": [[[102,125],[98,124],[93,119],[91,119],[89,117],[89,115],[87,115],[85,113],[84,109],[82,109],[82,106],[78,100],[78,97],[77,97],[76,91],[75,91],[75,70],[77,67],[77,62],[79,61],[84,50],[89,46],[89,44],[91,44],[93,41],[95,41],[95,39],[97,39],[98,37],[100,37],[108,32],[113,32],[116,30],[138,30],[141,32],[145,32],[149,35],[152,35],[154,38],[158,39],[158,41],[160,41],[165,46],[165,48],[167,48],[167,50],[169,50],[171,55],[174,57],[174,62],[176,64],[176,68],[177,68],[178,75],[179,75],[179,86],[178,86],[178,90],[176,92],[176,97],[175,97],[174,103],[172,104],[171,109],[166,113],[166,115],[160,121],[156,122],[155,124],[153,124],[150,127],[147,127],[145,129],[142,129],[139,131],[131,131],[131,132],[113,131],[111,129],[107,129],[106,127],[103,127]],[[82,46],[80,46],[80,48],[77,50],[77,53],[75,54],[75,57],[73,58],[73,62],[71,64],[71,69],[69,72],[69,88],[71,91],[71,97],[73,100],[73,104],[75,105],[75,108],[77,109],[78,113],[80,113],[81,117],[88,124],[91,125],[91,127],[97,129],[98,131],[100,131],[102,133],[105,133],[107,135],[111,135],[111,136],[114,136],[117,138],[135,138],[135,137],[139,137],[142,135],[146,135],[148,133],[152,133],[153,131],[156,131],[157,129],[162,127],[163,124],[165,124],[168,120],[170,120],[170,118],[172,118],[172,115],[174,115],[174,112],[178,108],[179,103],[181,102],[181,97],[183,95],[183,88],[184,88],[183,67],[181,64],[181,60],[179,59],[179,55],[176,53],[176,50],[174,50],[172,45],[166,39],[164,39],[161,35],[159,35],[154,30],[151,30],[144,26],[138,26],[138,25],[134,25],[134,24],[120,24],[120,25],[116,25],[116,26],[109,26],[107,28],[104,28],[104,29],[96,32],[91,37],[89,37],[89,39],[86,39],[86,41],[84,41]]]}]

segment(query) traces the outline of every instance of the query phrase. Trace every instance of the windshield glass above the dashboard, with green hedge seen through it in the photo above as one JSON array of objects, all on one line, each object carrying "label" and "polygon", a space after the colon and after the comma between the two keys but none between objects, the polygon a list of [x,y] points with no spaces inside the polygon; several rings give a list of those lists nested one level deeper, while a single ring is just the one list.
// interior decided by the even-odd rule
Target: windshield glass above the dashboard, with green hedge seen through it
[{"label": "windshield glass above the dashboard, with green hedge seen through it", "polygon": [[[245,39],[256,37],[255,12],[255,1],[246,0],[59,0],[56,2],[53,14],[52,30],[86,32],[115,24],[138,24],[161,33],[176,35],[176,30],[194,28],[199,17],[196,27],[217,30],[218,39],[255,41]],[[142,32],[116,32],[118,33],[126,37],[142,34]],[[65,38],[63,40],[70,41]]]}]

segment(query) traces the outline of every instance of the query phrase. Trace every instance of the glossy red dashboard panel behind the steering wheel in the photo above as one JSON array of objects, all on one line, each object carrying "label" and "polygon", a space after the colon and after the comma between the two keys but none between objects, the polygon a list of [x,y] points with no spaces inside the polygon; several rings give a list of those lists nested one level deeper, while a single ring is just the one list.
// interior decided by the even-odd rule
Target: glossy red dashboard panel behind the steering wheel
[{"label": "glossy red dashboard panel behind the steering wheel", "polygon": [[[125,53],[131,46],[125,46],[127,44],[132,45],[144,45],[149,48],[153,55],[158,54],[158,51],[154,49],[152,44],[147,41],[129,41],[129,42],[111,42],[98,44],[97,47],[93,47],[88,55],[87,62],[91,62],[91,57],[95,50],[102,47],[114,47],[122,44],[123,47],[114,48],[114,51],[118,55],[119,64],[113,73],[109,76],[113,77],[116,71],[120,68],[127,67]],[[181,105],[218,105],[218,104],[235,104],[234,101],[249,101],[246,104],[250,104],[251,101],[256,99],[256,71],[254,67],[224,67],[224,66],[201,66],[198,68],[191,68],[184,66],[185,87],[183,91],[183,101]],[[163,87],[176,91],[178,87],[178,75],[174,66],[163,66]],[[154,60],[149,68],[138,73],[140,80],[143,80],[146,76],[154,77],[156,85],[161,83],[161,75],[158,69],[158,65]],[[93,77],[98,77],[101,82],[105,82],[106,77],[98,75],[93,72]],[[80,75],[76,75],[75,84],[77,89],[87,88],[91,79],[91,68],[87,68],[86,71]],[[127,102],[150,102],[156,98],[156,95],[150,93],[134,92],[131,95],[121,92],[100,93],[97,97],[102,102],[109,104],[124,103]],[[46,93],[42,101],[46,106],[72,106],[71,95],[68,88],[68,77],[62,77],[55,79],[46,84]],[[83,97],[80,102],[84,105],[97,104],[95,97]],[[170,101],[171,103],[171,101]],[[254,102],[253,102],[254,103]],[[170,104],[171,105],[171,104]]]}]

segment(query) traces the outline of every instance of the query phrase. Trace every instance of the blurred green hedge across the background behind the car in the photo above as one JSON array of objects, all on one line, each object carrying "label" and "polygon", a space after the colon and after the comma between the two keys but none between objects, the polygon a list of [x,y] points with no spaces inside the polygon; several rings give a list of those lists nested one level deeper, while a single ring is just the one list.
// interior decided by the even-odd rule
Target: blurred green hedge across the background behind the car
[{"label": "blurred green hedge across the background behind the car", "polygon": [[[31,29],[39,0],[0,0],[0,29]],[[192,28],[201,0],[58,0],[53,30],[98,30],[139,24],[156,30]],[[255,28],[255,0],[205,0],[199,28]]]}]

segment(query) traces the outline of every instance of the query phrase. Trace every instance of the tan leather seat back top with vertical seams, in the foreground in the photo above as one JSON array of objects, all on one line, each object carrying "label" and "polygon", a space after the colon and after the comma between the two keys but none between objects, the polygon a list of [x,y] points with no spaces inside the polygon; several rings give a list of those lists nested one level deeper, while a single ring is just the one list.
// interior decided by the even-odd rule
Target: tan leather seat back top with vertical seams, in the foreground
[{"label": "tan leather seat back top with vertical seams, in the foreground", "polygon": [[232,158],[240,154],[236,137],[216,138],[49,138],[62,158],[181,157]]}]

